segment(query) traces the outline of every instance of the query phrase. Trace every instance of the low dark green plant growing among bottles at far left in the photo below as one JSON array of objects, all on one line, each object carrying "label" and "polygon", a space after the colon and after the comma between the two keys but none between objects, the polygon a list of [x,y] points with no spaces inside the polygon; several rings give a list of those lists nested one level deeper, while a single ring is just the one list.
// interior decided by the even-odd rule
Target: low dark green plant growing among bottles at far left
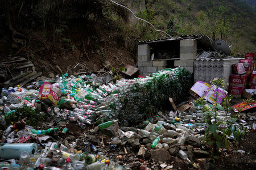
[{"label": "low dark green plant growing among bottles at far left", "polygon": [[5,117],[7,124],[11,122],[18,122],[26,117],[26,123],[30,126],[38,126],[41,121],[43,121],[43,115],[36,113],[32,107],[24,106],[22,108],[16,109],[14,114],[10,114]]}]

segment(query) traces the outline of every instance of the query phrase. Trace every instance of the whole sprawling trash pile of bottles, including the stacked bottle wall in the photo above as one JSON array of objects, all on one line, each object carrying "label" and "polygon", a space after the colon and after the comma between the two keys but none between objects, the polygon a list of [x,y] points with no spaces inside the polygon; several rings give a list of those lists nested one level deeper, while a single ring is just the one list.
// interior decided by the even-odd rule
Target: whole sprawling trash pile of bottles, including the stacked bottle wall
[{"label": "whole sprawling trash pile of bottles, including the stacked bottle wall", "polygon": [[[176,108],[191,87],[184,68],[115,84],[93,79],[64,74],[3,89],[1,169],[199,169],[207,163],[202,109],[213,104],[191,98]],[[213,94],[205,94],[210,102]],[[176,111],[164,112],[169,100]],[[256,128],[228,112],[217,115],[234,130]]]}]

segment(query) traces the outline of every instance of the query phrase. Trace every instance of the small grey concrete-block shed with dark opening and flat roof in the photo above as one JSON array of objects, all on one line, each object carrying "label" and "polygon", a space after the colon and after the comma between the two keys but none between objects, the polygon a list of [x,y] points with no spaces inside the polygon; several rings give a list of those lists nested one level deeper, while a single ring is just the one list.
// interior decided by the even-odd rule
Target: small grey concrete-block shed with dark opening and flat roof
[{"label": "small grey concrete-block shed with dark opening and flat roof", "polygon": [[194,73],[197,53],[213,50],[214,41],[208,36],[183,35],[171,39],[140,41],[138,45],[138,68],[147,76],[157,70],[185,67]]}]

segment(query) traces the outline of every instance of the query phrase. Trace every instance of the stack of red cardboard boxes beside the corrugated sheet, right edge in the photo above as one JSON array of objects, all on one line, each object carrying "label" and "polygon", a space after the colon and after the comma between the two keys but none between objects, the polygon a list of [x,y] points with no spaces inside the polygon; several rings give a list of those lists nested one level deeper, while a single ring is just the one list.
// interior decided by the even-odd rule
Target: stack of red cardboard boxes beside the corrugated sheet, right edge
[{"label": "stack of red cardboard boxes beside the corrugated sheet, right edge", "polygon": [[[234,64],[234,73],[230,75],[229,94],[241,98],[243,90],[256,88],[256,71],[254,71],[254,53],[245,54],[245,59]],[[248,83],[249,82],[249,83]]]}]

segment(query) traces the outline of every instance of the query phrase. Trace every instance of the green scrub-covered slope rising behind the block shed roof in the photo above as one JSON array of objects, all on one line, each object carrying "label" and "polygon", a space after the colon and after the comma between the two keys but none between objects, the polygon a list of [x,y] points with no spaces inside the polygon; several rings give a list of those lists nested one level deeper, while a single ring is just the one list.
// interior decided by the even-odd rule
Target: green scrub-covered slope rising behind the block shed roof
[{"label": "green scrub-covered slope rising behind the block shed roof", "polygon": [[255,8],[242,0],[133,1],[129,5],[171,36],[206,34],[214,38],[214,32],[215,39],[233,46],[233,55],[255,52]]}]

